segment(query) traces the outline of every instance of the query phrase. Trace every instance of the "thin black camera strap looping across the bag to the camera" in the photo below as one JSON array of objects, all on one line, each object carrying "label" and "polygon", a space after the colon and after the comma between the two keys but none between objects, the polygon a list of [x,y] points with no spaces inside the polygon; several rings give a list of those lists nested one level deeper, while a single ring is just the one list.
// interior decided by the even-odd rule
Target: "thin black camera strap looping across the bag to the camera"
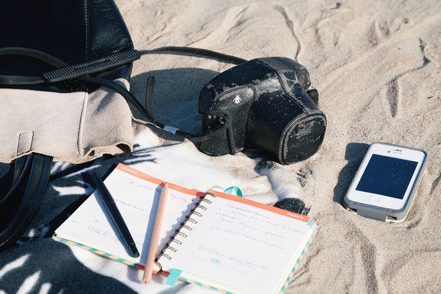
[{"label": "thin black camera strap looping across the bag to the camera", "polygon": [[177,134],[181,137],[185,137],[190,141],[206,141],[207,139],[215,136],[216,134],[225,132],[225,130],[227,130],[228,127],[230,127],[230,120],[229,118],[226,117],[223,118],[221,125],[210,130],[210,132],[207,134],[179,130],[175,127],[165,125],[160,120],[158,120],[155,111],[153,109],[153,87],[155,83],[154,77],[148,78],[147,87],[146,87],[146,107],[144,107],[138,101],[138,99],[134,97],[132,93],[130,93],[127,89],[125,89],[125,87],[122,87],[117,83],[114,83],[112,80],[106,80],[104,78],[89,76],[92,73],[97,73],[99,71],[103,71],[104,69],[111,69],[113,67],[120,66],[121,64],[132,62],[136,59],[139,59],[141,55],[155,54],[160,52],[171,52],[172,54],[182,53],[187,55],[199,55],[202,57],[219,59],[223,62],[228,62],[232,64],[241,64],[246,62],[246,59],[242,59],[232,55],[225,55],[223,53],[219,53],[216,51],[211,51],[201,48],[167,46],[152,50],[141,50],[141,51],[128,50],[125,52],[119,52],[99,59],[94,59],[82,64],[74,64],[69,66],[69,64],[62,62],[56,57],[53,57],[52,55],[49,55],[45,52],[41,52],[29,48],[9,47],[9,48],[0,48],[0,56],[22,55],[22,56],[32,57],[35,59],[39,59],[42,62],[45,62],[46,64],[49,64],[50,66],[54,67],[54,70],[43,73],[41,76],[0,75],[0,86],[50,84],[50,83],[61,82],[64,80],[76,79],[84,83],[110,87],[111,89],[121,94],[127,100],[127,102],[130,102],[133,106],[135,106],[135,108],[138,109],[138,111],[140,111],[144,116],[146,116],[146,118],[148,118],[148,120],[150,120],[150,122],[153,125],[167,132],[172,132],[173,134]]}]

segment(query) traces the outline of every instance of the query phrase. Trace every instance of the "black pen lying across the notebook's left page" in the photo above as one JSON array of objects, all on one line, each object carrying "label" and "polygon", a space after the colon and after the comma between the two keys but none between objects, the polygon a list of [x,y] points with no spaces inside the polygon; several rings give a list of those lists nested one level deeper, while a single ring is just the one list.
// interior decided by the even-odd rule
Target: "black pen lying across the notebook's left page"
[{"label": "black pen lying across the notebook's left page", "polygon": [[127,225],[125,225],[123,216],[121,216],[118,207],[116,207],[112,195],[110,194],[109,190],[107,190],[103,181],[99,178],[99,176],[97,176],[97,174],[92,172],[91,176],[95,183],[95,186],[97,186],[98,194],[104,202],[104,207],[106,207],[106,210],[109,212],[113,224],[116,226],[116,229],[120,233],[120,236],[123,237],[124,244],[130,252],[130,256],[134,258],[139,257],[137,246],[134,244],[132,235],[130,235],[130,231],[127,228]]}]

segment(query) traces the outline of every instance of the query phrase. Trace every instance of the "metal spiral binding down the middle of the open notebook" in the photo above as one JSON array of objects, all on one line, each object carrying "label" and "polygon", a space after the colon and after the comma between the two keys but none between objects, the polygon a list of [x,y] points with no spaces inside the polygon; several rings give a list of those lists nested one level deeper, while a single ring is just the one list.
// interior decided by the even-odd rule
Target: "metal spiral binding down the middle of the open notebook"
[{"label": "metal spiral binding down the middle of the open notebook", "polygon": [[205,202],[207,204],[211,204],[211,200],[206,199],[205,197],[207,197],[207,195],[210,195],[211,197],[216,197],[216,195],[214,195],[213,193],[205,193],[204,195],[202,195],[200,197],[200,200],[197,201],[197,203],[195,204],[195,207],[193,207],[193,209],[190,210],[190,214],[188,214],[186,216],[186,218],[184,219],[184,221],[181,223],[181,225],[179,225],[179,228],[177,228],[174,232],[174,234],[172,235],[172,237],[169,239],[169,241],[167,241],[167,244],[165,244],[164,247],[162,247],[161,252],[156,255],[156,260],[158,260],[158,258],[160,258],[160,256],[164,256],[165,258],[168,259],[172,259],[172,256],[168,255],[167,253],[165,253],[166,250],[171,250],[173,252],[176,252],[177,249],[174,246],[170,246],[172,243],[176,243],[177,245],[181,245],[182,241],[180,241],[179,239],[176,239],[177,235],[180,235],[184,238],[186,238],[188,235],[184,232],[181,232],[182,229],[186,229],[188,231],[193,230],[192,227],[190,227],[190,225],[187,225],[188,222],[190,223],[194,223],[196,224],[197,221],[195,220],[195,218],[193,218],[193,214],[195,216],[199,216],[202,217],[202,214],[199,211],[196,211],[196,209],[200,208],[203,210],[207,210],[207,207],[205,207],[204,205],[202,205],[202,202]]}]

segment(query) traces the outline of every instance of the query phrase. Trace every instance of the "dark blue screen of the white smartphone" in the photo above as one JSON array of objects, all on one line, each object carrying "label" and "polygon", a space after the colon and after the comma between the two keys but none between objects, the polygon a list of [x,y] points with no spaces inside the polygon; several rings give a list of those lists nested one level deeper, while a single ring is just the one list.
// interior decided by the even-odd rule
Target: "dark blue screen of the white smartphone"
[{"label": "dark blue screen of the white smartphone", "polygon": [[372,154],[356,190],[402,199],[418,162]]}]

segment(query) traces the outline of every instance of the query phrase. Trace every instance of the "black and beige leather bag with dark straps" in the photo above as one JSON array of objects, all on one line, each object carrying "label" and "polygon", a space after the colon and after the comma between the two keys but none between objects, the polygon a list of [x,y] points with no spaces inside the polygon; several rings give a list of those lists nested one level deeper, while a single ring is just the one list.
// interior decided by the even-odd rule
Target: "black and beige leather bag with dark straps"
[{"label": "black and beige leather bag with dark straps", "polygon": [[[15,244],[33,220],[48,186],[52,160],[77,163],[132,151],[127,102],[115,91],[99,87],[117,79],[120,83],[113,87],[128,87],[139,52],[111,0],[0,1],[0,14],[0,99],[13,111],[0,119],[0,161],[10,164],[1,179],[6,191],[0,194],[3,250]],[[59,111],[50,111],[57,103]],[[32,109],[36,106],[39,111]],[[80,113],[78,118],[75,113]],[[69,133],[67,127],[59,127],[71,123],[66,116],[78,123],[80,140],[59,139]],[[35,127],[22,130],[20,125]],[[94,127],[104,132],[101,138]],[[4,141],[8,135],[14,140]],[[72,146],[80,142],[83,148],[71,153],[69,139]]]}]

